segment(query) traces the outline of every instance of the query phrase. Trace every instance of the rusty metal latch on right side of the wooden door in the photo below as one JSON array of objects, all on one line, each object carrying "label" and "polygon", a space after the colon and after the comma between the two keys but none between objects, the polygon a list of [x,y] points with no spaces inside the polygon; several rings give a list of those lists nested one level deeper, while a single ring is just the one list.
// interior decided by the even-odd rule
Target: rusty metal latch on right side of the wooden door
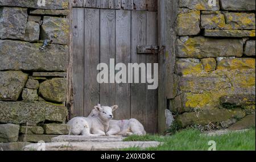
[{"label": "rusty metal latch on right side of the wooden door", "polygon": [[137,45],[138,54],[157,54],[164,50],[164,46],[160,47],[158,45]]}]

